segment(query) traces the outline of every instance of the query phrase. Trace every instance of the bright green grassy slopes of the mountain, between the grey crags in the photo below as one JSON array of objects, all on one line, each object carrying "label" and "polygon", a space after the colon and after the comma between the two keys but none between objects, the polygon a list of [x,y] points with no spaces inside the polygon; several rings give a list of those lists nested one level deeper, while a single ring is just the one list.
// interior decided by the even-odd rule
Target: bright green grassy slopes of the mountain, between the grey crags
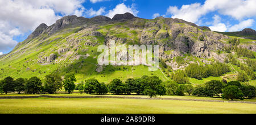
[{"label": "bright green grassy slopes of the mountain, between the grey crags", "polygon": [[[79,32],[81,27],[68,27],[64,30],[57,32],[52,36],[48,36],[46,34],[41,35],[38,38],[32,39],[30,41],[23,41],[22,44],[19,45],[18,48],[15,48],[14,51],[10,52],[9,55],[0,59],[0,80],[7,76],[11,76],[14,78],[30,78],[33,76],[37,76],[41,79],[44,78],[47,74],[50,73],[58,73],[62,77],[65,74],[75,73],[77,78],[77,83],[80,81],[84,81],[88,78],[97,78],[100,82],[108,83],[114,78],[120,78],[122,81],[125,81],[127,78],[139,78],[143,75],[147,76],[158,76],[163,81],[170,80],[170,77],[167,77],[168,72],[167,69],[163,69],[162,71],[156,70],[155,72],[148,71],[148,67],[144,65],[139,66],[114,66],[114,70],[106,69],[102,73],[97,73],[97,56],[100,54],[97,52],[97,47],[100,44],[104,44],[105,36],[113,36],[118,39],[126,39],[127,44],[140,44],[139,39],[142,35],[143,30],[145,30],[142,26],[146,22],[155,22],[156,20],[146,20],[139,19],[137,22],[134,22],[139,28],[130,28],[127,22],[123,23],[113,23],[99,26],[97,31],[100,32],[103,36],[83,36],[85,33],[91,32]],[[159,20],[163,21],[163,20]],[[162,23],[161,23],[162,24]],[[162,24],[164,28],[158,29],[159,34],[162,32],[172,32],[170,27],[166,27],[165,24]],[[141,27],[140,27],[141,26]],[[186,25],[181,23],[181,26],[185,27]],[[155,32],[154,30],[159,27],[151,27],[146,29],[148,34],[152,34]],[[202,31],[196,28],[199,31]],[[208,31],[202,31],[208,32]],[[194,34],[194,33],[193,33]],[[195,39],[199,37],[199,34],[194,34]],[[226,34],[230,35],[230,34]],[[172,36],[170,36],[171,38]],[[233,36],[231,35],[230,38]],[[238,37],[238,36],[234,36]],[[82,39],[78,43],[69,42],[70,39],[76,41],[76,39]],[[85,45],[87,41],[91,41],[92,43],[98,42],[96,46]],[[241,43],[243,44],[251,44],[250,39],[242,39]],[[28,44],[24,44],[28,42]],[[162,42],[166,42],[162,40]],[[72,45],[74,44],[75,45]],[[70,50],[61,55],[57,53],[60,48],[69,47]],[[70,53],[71,52],[71,53]],[[55,62],[50,62],[48,64],[38,63],[38,60],[42,59],[42,57],[46,57],[55,53],[57,55],[57,59]],[[171,54],[172,51],[164,51],[164,53]],[[224,52],[221,52],[224,53]],[[90,55],[85,59],[75,60],[75,55]],[[256,53],[255,53],[256,54]],[[200,64],[205,64],[202,62],[199,57],[193,57],[189,54],[184,54],[187,57],[185,63],[189,63],[189,61],[197,61]],[[174,58],[175,60],[175,58]],[[204,59],[207,61],[214,61],[213,59]],[[170,60],[172,61],[172,60]],[[232,65],[231,65],[232,66]],[[236,74],[240,71],[239,68],[234,68],[234,70],[230,74]],[[222,80],[222,77],[209,77],[204,78],[203,80],[195,80],[193,78],[189,78],[189,81],[193,84],[203,84],[210,80]],[[255,85],[255,81],[249,81],[249,84]]]}]

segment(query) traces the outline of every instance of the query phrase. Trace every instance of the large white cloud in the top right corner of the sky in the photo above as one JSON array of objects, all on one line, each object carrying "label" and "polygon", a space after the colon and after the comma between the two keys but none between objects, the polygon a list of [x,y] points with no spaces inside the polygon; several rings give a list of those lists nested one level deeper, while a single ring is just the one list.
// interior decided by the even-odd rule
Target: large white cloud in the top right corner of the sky
[{"label": "large white cloud in the top right corner of the sky", "polygon": [[218,11],[219,14],[229,15],[235,19],[242,20],[256,16],[255,0],[206,0],[204,5],[193,3],[191,5],[183,5],[180,9],[176,6],[170,6],[166,15],[172,15],[172,18],[180,18],[189,22],[196,23],[201,16]]}]

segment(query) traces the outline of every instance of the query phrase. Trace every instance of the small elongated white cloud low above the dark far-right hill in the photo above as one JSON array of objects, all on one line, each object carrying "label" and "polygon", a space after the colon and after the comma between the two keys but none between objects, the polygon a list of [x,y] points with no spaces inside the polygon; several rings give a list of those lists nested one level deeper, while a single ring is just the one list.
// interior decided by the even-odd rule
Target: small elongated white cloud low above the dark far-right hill
[{"label": "small elongated white cloud low above the dark far-right hill", "polygon": [[244,28],[253,26],[253,23],[254,23],[253,19],[247,19],[247,20],[244,20],[244,21],[240,22],[239,24],[235,24],[234,26],[230,27],[229,31],[230,32],[241,31]]}]

